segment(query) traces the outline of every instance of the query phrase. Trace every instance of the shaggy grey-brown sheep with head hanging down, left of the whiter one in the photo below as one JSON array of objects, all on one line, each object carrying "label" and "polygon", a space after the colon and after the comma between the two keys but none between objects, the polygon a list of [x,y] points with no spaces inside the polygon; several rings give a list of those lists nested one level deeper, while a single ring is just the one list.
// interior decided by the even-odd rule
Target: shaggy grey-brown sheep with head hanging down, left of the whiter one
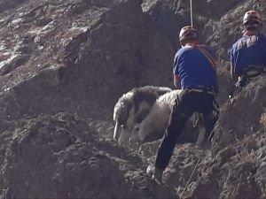
[{"label": "shaggy grey-brown sheep with head hanging down, left of the whiter one", "polygon": [[145,119],[159,96],[171,90],[167,87],[144,86],[123,94],[113,108],[113,140],[119,143],[129,141],[133,126]]}]

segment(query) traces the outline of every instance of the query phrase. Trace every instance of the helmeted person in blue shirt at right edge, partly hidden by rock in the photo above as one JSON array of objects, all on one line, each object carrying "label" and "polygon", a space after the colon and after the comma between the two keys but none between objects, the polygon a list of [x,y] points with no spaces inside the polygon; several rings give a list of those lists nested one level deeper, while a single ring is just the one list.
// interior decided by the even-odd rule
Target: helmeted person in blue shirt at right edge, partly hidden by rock
[{"label": "helmeted person in blue shirt at right edge, partly hidden by rock", "polygon": [[266,36],[261,33],[262,18],[259,12],[246,11],[243,27],[243,36],[231,47],[231,78],[237,82],[230,97],[266,71]]}]

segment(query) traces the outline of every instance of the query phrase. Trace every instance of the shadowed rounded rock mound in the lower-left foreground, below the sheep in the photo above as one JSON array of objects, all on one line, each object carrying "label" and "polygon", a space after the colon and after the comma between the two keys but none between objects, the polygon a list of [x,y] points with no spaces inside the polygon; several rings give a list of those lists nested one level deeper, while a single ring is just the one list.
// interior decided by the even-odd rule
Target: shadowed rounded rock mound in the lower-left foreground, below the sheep
[{"label": "shadowed rounded rock mound in the lower-left foreground, below the sheep", "polygon": [[[76,115],[20,119],[0,142],[4,198],[151,198],[145,190],[149,179],[136,178],[141,170],[133,165],[141,166],[140,158],[99,140]],[[156,192],[162,196],[161,188]]]}]

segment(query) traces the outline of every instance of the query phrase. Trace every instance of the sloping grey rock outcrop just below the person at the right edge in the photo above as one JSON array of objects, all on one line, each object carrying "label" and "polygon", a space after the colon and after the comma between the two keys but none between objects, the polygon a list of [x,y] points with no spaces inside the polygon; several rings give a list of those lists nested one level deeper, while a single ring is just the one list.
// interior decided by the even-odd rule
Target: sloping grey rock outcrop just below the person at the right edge
[{"label": "sloping grey rock outcrop just below the person at the right edge", "polygon": [[265,93],[265,76],[258,77],[248,84],[231,103],[223,106],[219,124],[216,126],[215,150],[221,150],[226,145],[257,132],[263,134],[264,129],[260,119],[266,107]]}]

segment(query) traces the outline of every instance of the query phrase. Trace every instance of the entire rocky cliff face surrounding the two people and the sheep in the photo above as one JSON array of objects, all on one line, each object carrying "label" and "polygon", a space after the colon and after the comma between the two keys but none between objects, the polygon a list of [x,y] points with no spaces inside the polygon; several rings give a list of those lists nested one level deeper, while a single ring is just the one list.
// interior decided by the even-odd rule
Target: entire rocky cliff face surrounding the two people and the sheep
[{"label": "entire rocky cliff face surrounding the two people and the sheep", "polygon": [[162,186],[145,175],[159,142],[141,154],[113,142],[113,105],[133,87],[172,87],[189,1],[0,0],[0,198],[266,198],[265,78],[226,100],[250,9],[265,1],[193,1],[219,57],[221,117],[210,150],[176,146]]}]

